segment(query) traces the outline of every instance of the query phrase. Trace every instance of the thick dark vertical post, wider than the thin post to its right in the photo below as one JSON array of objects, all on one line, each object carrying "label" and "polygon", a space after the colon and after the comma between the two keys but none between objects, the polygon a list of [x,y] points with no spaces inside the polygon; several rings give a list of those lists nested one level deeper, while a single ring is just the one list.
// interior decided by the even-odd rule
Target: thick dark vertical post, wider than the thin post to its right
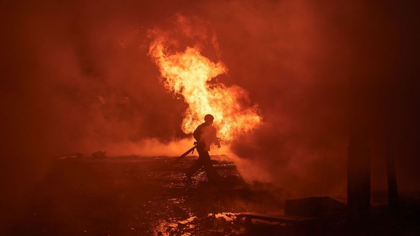
[{"label": "thick dark vertical post, wider than the thin post to its right", "polygon": [[348,223],[360,229],[369,222],[370,148],[365,122],[352,120],[347,158]]}]

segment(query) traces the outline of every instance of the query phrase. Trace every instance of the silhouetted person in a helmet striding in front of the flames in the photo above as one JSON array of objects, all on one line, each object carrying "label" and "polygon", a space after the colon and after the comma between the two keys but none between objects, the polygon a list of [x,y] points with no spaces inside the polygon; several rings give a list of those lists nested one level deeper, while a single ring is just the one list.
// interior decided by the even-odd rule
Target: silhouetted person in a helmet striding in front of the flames
[{"label": "silhouetted person in a helmet striding in front of the flames", "polygon": [[204,166],[209,182],[219,180],[216,169],[211,164],[209,155],[210,145],[214,143],[220,147],[220,139],[216,137],[216,129],[212,126],[214,117],[210,114],[204,117],[204,123],[200,124],[194,131],[193,136],[196,140],[198,160],[185,173],[190,180],[191,176]]}]

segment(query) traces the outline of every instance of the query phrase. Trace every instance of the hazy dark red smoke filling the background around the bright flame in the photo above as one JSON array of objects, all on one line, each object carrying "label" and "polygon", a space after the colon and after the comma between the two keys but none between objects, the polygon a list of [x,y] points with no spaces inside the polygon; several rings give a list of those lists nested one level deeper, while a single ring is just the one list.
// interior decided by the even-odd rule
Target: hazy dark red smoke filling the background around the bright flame
[{"label": "hazy dark red smoke filling the background around the bright flame", "polygon": [[264,125],[232,143],[246,176],[318,193],[327,146],[325,191],[343,191],[356,114],[371,126],[373,188],[386,186],[389,122],[398,124],[400,186],[418,187],[419,20],[409,2],[43,1],[4,9],[1,182],[9,201],[20,202],[27,180],[54,156],[187,137],[186,103],[165,90],[147,56],[147,31],[170,28],[176,14],[209,23],[219,51],[203,54],[229,69],[218,79],[259,105]]}]

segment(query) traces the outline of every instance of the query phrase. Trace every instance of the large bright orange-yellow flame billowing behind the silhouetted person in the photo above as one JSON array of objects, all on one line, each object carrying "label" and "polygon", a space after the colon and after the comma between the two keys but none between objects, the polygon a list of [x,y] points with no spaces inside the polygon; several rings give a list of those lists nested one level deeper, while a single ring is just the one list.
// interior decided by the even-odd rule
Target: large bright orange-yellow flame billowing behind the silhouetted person
[{"label": "large bright orange-yellow flame billowing behind the silhouetted person", "polygon": [[181,125],[185,133],[192,133],[203,122],[206,114],[214,116],[213,125],[218,137],[232,140],[261,124],[256,105],[251,106],[243,88],[209,81],[227,73],[222,62],[213,62],[201,55],[198,47],[187,47],[184,52],[168,52],[164,40],[152,42],[149,54],[157,64],[165,87],[181,94],[188,103]]}]

